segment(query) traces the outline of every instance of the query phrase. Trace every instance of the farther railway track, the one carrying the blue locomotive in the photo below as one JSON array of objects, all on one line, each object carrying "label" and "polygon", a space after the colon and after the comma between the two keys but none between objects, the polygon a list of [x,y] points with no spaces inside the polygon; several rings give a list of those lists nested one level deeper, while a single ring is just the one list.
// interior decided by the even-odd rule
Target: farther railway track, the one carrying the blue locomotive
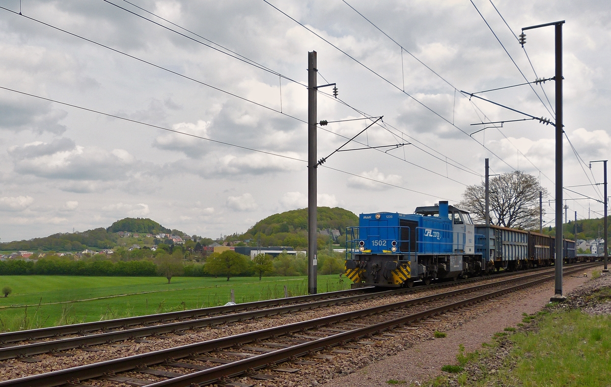
[{"label": "farther railway track, the one carrying the blue locomotive", "polygon": [[[546,269],[535,269],[533,272]],[[351,302],[387,297],[389,295],[427,291],[437,288],[473,283],[482,280],[516,275],[514,272],[469,280],[434,283],[416,288],[375,292],[373,288],[350,289],[316,295],[277,298],[238,305],[216,306],[124,319],[104,320],[84,324],[62,325],[35,330],[0,334],[0,360],[27,358],[49,352],[59,352],[92,345],[107,344],[126,339],[147,338],[158,335],[182,334],[185,331],[228,324],[277,314],[341,305]],[[40,341],[43,339],[43,341]]]}]

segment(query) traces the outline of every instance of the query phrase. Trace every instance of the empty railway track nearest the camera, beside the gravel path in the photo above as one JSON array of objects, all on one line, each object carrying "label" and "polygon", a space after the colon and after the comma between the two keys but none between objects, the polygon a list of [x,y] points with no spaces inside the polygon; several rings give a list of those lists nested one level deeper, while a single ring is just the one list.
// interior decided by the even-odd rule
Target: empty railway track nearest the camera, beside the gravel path
[{"label": "empty railway track nearest the camera, beside the gravel path", "polygon": [[[579,265],[565,270],[565,275],[596,265]],[[316,355],[316,352],[338,345],[345,349],[332,351],[346,353],[362,345],[363,341],[353,343],[355,340],[368,335],[384,335],[383,332],[390,328],[397,330],[397,327],[435,314],[543,283],[554,278],[552,272],[553,268],[496,283],[32,375],[0,382],[0,387],[60,386],[67,383],[85,387],[88,385],[79,384],[80,380],[100,377],[95,380],[95,385],[125,383],[131,386],[178,387],[205,385],[219,380],[233,386],[249,385],[232,382],[229,378],[246,374],[251,380],[266,380],[278,372],[295,372],[298,369],[277,367],[276,364],[290,361],[298,366],[324,360],[325,356],[332,355]],[[302,356],[310,360],[299,360]],[[265,367],[271,370],[268,374],[255,371]],[[119,373],[123,374],[117,375]]]}]

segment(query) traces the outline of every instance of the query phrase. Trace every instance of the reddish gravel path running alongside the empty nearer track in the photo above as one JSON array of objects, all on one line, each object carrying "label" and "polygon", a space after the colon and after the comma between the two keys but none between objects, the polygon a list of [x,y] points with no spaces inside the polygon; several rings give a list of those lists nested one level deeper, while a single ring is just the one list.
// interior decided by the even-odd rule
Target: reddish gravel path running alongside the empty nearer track
[{"label": "reddish gravel path running alongside the empty nearer track", "polygon": [[[584,270],[588,277],[577,277],[577,275],[565,277],[563,281],[565,294],[577,289],[579,286],[583,286],[591,277],[592,270],[600,270],[601,268],[602,266]],[[611,275],[607,274],[601,278],[603,277],[604,280],[609,280]],[[592,282],[587,283],[588,289],[594,286],[591,284]],[[433,339],[430,329],[426,329],[429,324],[425,324],[423,327],[424,334],[420,335],[419,339],[415,339],[413,345],[408,349],[395,352],[395,355],[387,356],[375,363],[371,363],[376,360],[375,356],[370,356],[368,359],[353,357],[348,361],[368,365],[356,367],[356,372],[343,376],[337,373],[337,371],[341,370],[341,367],[338,370],[338,367],[335,366],[335,374],[327,372],[326,375],[327,379],[329,377],[334,378],[324,383],[324,387],[389,386],[389,383],[387,383],[389,380],[397,380],[402,384],[404,381],[407,385],[409,383],[420,385],[423,380],[441,374],[441,366],[456,364],[459,344],[463,344],[467,352],[480,348],[481,343],[490,341],[494,333],[503,331],[505,327],[513,327],[521,322],[522,313],[530,314],[540,310],[549,302],[549,298],[552,295],[554,295],[553,281],[512,293],[507,297],[497,299],[495,303],[483,303],[480,306],[475,306],[471,311],[467,312],[468,316],[459,316],[463,318],[457,318],[454,320],[454,323],[446,324],[446,338]],[[320,380],[320,378],[316,379]],[[324,380],[324,375],[322,380]],[[305,386],[318,384],[318,382],[295,383],[295,385]]]}]

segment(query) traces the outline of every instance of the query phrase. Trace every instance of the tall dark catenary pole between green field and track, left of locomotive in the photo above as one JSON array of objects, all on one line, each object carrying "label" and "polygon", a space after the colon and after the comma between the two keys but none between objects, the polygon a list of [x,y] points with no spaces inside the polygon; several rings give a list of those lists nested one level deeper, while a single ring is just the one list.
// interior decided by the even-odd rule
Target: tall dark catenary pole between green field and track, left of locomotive
[{"label": "tall dark catenary pole between green field and track, left of locomotive", "polygon": [[316,294],[316,234],[317,189],[316,189],[316,51],[307,53],[307,92],[308,92],[308,146],[307,146],[307,283],[308,293]]}]

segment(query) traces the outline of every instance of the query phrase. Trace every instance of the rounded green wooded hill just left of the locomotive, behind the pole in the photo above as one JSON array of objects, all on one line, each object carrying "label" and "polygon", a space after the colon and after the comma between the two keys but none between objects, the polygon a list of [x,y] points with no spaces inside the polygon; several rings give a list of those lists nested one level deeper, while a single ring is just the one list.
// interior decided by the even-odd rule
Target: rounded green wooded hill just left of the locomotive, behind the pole
[{"label": "rounded green wooded hill just left of the locomotive, behind the pole", "polygon": [[[318,207],[316,216],[318,229],[337,229],[341,237],[339,243],[345,244],[346,227],[358,226],[359,217],[346,209]],[[244,234],[234,234],[227,241],[251,240],[249,245],[307,247],[307,208],[281,212],[257,222]],[[328,244],[328,237],[319,237],[319,246]]]}]

